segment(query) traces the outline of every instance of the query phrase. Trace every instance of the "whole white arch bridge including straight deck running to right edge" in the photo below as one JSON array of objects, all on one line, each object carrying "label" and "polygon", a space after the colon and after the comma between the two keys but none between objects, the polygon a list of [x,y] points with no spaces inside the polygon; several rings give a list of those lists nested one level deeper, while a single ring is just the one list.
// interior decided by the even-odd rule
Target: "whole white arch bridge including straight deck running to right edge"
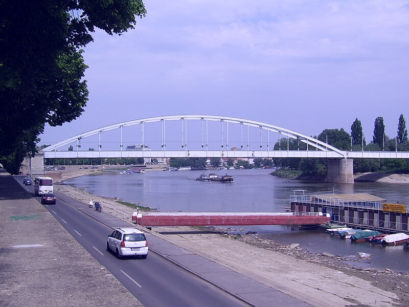
[{"label": "whole white arch bridge including straight deck running to right edge", "polygon": [[[112,134],[112,130],[117,131]],[[105,139],[107,141],[104,141]],[[290,139],[297,140],[299,144],[305,143],[306,146],[303,148],[306,149],[290,150]],[[279,148],[274,150],[274,144],[277,142]],[[74,150],[67,150],[67,145],[70,144]],[[128,150],[129,146],[124,148],[124,144],[139,146],[137,150]],[[65,149],[62,150],[64,146]],[[97,149],[88,150],[91,147]],[[65,159],[409,158],[409,152],[340,150],[287,128],[253,120],[212,115],[172,115],[126,121],[76,135],[48,146],[42,152],[44,158]]]}]

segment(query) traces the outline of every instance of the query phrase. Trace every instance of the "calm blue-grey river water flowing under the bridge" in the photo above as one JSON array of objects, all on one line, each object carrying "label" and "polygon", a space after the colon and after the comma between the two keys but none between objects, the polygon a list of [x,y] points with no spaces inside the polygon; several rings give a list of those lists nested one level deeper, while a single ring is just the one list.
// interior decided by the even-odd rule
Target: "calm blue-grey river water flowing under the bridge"
[{"label": "calm blue-grey river water flowing under the bridge", "polygon": [[[226,170],[214,172],[222,176]],[[306,190],[306,194],[366,192],[391,203],[409,204],[409,187],[404,184],[333,184],[288,180],[270,176],[269,169],[227,172],[234,177],[233,183],[195,181],[201,171],[147,171],[134,174],[104,171],[66,180],[64,183],[108,198],[141,202],[160,211],[280,212],[284,207],[289,207],[289,196],[293,189]],[[359,266],[409,273],[409,252],[402,246],[351,244],[350,240],[328,235],[322,230],[298,230],[286,226],[230,227],[229,231],[256,231],[259,237],[283,244],[299,243],[311,253],[328,252],[342,256],[356,256],[357,252],[370,253],[373,256],[369,260],[360,260]]]}]

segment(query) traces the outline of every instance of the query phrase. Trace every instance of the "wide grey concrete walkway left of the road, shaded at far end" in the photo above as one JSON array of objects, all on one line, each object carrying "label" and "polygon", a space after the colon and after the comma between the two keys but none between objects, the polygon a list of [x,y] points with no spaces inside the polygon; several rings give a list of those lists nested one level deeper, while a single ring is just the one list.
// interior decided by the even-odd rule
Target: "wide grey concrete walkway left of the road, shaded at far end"
[{"label": "wide grey concrete walkway left of the road, shaded at far end", "polygon": [[0,172],[0,306],[143,306]]}]

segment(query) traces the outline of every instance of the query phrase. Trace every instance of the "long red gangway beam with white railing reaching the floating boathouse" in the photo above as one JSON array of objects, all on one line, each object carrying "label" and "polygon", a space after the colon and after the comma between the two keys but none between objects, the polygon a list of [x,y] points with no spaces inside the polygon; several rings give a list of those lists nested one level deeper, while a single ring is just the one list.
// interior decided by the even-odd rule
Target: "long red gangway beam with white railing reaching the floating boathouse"
[{"label": "long red gangway beam with white railing reaching the floating boathouse", "polygon": [[330,219],[329,214],[292,212],[134,212],[132,215],[132,222],[141,226],[320,225]]}]

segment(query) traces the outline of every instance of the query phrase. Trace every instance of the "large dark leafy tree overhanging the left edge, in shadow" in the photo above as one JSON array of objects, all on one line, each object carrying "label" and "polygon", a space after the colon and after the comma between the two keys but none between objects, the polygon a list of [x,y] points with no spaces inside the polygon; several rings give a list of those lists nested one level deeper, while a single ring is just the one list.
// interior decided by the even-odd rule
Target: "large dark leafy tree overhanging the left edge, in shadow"
[{"label": "large dark leafy tree overhanging the left edge, in shadow", "polygon": [[0,2],[0,163],[10,173],[35,154],[45,123],[62,125],[84,111],[81,48],[90,33],[121,35],[145,15],[142,0]]}]

